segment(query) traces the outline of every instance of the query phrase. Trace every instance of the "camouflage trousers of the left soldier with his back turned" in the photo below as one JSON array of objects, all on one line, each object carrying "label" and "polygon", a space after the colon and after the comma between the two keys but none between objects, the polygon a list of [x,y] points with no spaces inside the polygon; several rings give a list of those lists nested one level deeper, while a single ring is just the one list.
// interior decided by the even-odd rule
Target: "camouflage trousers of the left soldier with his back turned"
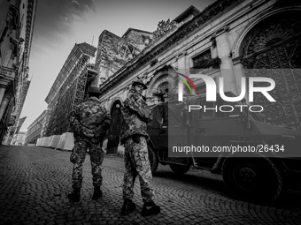
[{"label": "camouflage trousers of the left soldier with his back turned", "polygon": [[89,148],[93,185],[99,187],[103,182],[101,165],[104,161],[104,151],[101,148],[102,143],[93,144],[88,141],[76,141],[73,146],[73,152],[70,155],[70,161],[73,162],[72,187],[81,188],[82,166]]}]

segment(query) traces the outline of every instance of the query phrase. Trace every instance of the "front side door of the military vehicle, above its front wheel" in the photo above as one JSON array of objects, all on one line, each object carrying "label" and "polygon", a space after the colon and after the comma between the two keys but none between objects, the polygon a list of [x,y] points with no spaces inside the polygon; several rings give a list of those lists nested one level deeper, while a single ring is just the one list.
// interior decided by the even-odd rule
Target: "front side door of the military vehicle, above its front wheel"
[{"label": "front side door of the military vehicle, above its front wheel", "polygon": [[[202,109],[197,112],[196,122],[191,129],[191,145],[202,147],[200,153],[193,153],[194,160],[202,167],[211,168],[216,157],[227,150],[228,143],[243,141],[244,120],[236,102],[205,101],[199,98]],[[214,152],[215,151],[215,152]]]}]

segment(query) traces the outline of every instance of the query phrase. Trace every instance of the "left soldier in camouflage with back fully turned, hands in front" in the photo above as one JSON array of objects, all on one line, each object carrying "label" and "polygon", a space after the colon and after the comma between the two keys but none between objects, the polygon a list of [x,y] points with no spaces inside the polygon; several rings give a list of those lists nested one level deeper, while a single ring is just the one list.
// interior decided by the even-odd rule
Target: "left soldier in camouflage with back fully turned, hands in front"
[{"label": "left soldier in camouflage with back fully turned, hands in front", "polygon": [[89,89],[89,100],[76,105],[70,114],[70,122],[74,134],[74,146],[70,161],[73,162],[72,187],[73,192],[68,194],[68,199],[80,200],[82,183],[82,163],[85,161],[87,149],[89,148],[94,194],[92,199],[102,196],[100,186],[103,176],[101,165],[104,160],[102,144],[105,131],[108,130],[111,118],[106,109],[98,100],[99,91],[95,88]]}]

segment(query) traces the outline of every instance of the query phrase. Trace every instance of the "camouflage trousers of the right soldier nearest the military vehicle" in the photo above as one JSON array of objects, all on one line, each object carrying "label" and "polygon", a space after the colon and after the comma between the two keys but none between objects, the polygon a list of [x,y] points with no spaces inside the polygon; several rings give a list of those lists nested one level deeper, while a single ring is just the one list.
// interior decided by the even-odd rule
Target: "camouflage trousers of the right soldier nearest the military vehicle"
[{"label": "camouflage trousers of the right soldier nearest the military vehicle", "polygon": [[151,189],[151,164],[146,139],[144,137],[139,139],[139,143],[135,143],[131,138],[125,142],[124,161],[126,173],[123,180],[123,199],[133,199],[135,177],[139,176],[143,202],[150,202],[153,196]]}]

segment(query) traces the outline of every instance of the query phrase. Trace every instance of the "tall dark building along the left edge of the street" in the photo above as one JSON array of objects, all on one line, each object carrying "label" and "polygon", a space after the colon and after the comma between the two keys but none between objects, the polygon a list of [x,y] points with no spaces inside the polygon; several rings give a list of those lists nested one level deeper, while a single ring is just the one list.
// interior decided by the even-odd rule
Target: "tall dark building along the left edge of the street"
[{"label": "tall dark building along the left edge of the street", "polygon": [[30,84],[36,5],[37,0],[0,1],[0,143],[11,143]]}]

